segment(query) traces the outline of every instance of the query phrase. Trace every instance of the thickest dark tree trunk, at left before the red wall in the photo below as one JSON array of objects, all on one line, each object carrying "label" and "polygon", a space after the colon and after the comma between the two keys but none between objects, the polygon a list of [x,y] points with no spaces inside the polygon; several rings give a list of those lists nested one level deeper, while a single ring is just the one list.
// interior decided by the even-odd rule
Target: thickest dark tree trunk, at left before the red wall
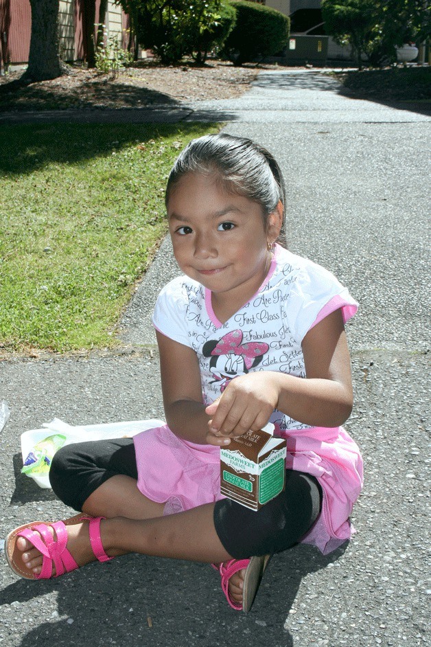
[{"label": "thickest dark tree trunk, at left before the red wall", "polygon": [[59,0],[30,0],[32,36],[27,71],[23,79],[44,81],[62,75],[58,47]]}]

